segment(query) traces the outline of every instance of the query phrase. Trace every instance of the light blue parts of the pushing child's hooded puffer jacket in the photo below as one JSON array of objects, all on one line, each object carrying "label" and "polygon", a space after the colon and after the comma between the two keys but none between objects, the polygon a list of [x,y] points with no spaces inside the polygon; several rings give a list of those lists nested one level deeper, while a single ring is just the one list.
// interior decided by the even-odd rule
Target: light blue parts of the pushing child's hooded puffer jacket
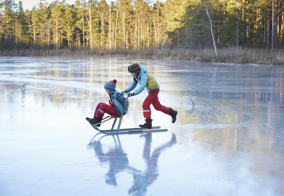
[{"label": "light blue parts of the pushing child's hooded puffer jacket", "polygon": [[[140,84],[140,87],[136,91],[133,92],[134,95],[138,95],[139,93],[141,93],[145,89],[145,87],[148,93],[151,92],[151,89],[148,86],[146,86],[148,76],[145,72],[147,71],[147,68],[143,65],[141,65],[140,68],[141,68],[140,74],[138,75],[138,78],[136,78],[138,83]],[[136,86],[137,86],[137,82],[133,79],[132,84],[127,89],[125,89],[125,91],[129,93]],[[158,84],[156,89],[159,89],[159,88],[160,88],[160,85]]]}]

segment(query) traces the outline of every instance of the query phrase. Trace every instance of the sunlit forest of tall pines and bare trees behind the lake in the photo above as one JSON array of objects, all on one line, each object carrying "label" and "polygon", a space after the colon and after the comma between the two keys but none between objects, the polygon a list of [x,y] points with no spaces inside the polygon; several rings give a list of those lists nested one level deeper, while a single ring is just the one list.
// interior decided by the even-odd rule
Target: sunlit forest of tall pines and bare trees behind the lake
[{"label": "sunlit forest of tall pines and bare trees behind the lake", "polygon": [[[284,46],[283,0],[0,1],[0,50]],[[217,53],[216,53],[217,54]]]}]

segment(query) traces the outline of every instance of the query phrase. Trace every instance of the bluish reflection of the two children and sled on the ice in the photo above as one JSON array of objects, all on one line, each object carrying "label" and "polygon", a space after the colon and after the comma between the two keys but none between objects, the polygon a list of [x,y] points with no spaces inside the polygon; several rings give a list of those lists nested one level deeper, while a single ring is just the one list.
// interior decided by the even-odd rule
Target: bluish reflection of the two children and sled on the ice
[{"label": "bluish reflection of the two children and sled on the ice", "polygon": [[[99,133],[100,134],[100,133]],[[161,155],[162,151],[167,148],[172,147],[177,143],[175,134],[172,133],[170,141],[165,142],[161,146],[157,147],[151,153],[151,143],[152,143],[152,134],[146,133],[140,135],[140,137],[145,138],[145,143],[143,146],[143,159],[146,163],[146,170],[141,171],[129,166],[129,160],[127,158],[127,153],[122,149],[119,135],[112,135],[114,141],[114,148],[108,150],[108,152],[103,152],[103,145],[101,139],[103,137],[109,136],[104,135],[99,139],[96,139],[96,134],[93,139],[90,141],[88,146],[93,147],[96,157],[99,159],[100,163],[109,165],[109,170],[105,175],[106,184],[116,186],[116,174],[120,172],[127,172],[133,175],[134,182],[128,194],[130,195],[146,195],[147,187],[151,185],[159,176],[158,173],[158,158]]]}]

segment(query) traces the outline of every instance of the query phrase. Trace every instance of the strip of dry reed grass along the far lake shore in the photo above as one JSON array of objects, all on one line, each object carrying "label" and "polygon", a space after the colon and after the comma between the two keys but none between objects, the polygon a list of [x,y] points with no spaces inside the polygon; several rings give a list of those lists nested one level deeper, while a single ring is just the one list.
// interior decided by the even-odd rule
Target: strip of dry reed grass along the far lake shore
[{"label": "strip of dry reed grass along the far lake shore", "polygon": [[159,57],[175,60],[212,61],[237,64],[284,65],[284,52],[276,50],[271,57],[270,49],[229,47],[218,49],[140,49],[140,50],[71,50],[71,49],[14,49],[0,50],[0,56],[139,56]]}]

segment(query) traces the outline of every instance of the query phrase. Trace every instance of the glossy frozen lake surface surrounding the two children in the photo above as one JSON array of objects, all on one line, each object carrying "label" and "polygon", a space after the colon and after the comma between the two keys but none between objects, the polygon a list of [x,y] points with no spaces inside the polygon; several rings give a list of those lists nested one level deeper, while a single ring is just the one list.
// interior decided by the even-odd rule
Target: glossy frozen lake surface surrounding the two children
[{"label": "glossy frozen lake surface surrounding the two children", "polygon": [[[283,195],[284,66],[131,57],[0,57],[0,195]],[[104,83],[145,65],[160,84],[153,126],[98,134]],[[139,86],[139,85],[138,85]],[[146,90],[121,128],[143,124]],[[109,129],[112,122],[101,129]]]}]

